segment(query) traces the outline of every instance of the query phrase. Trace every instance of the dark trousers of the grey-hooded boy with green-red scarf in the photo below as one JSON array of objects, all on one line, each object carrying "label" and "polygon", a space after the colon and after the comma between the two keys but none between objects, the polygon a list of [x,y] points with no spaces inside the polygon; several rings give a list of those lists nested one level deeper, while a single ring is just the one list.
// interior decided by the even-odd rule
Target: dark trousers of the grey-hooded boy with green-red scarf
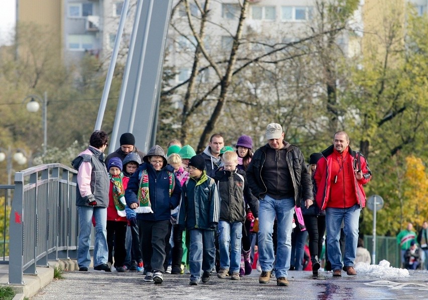
[{"label": "dark trousers of the grey-hooded boy with green-red scarf", "polygon": [[137,219],[140,228],[140,241],[142,243],[144,269],[146,271],[164,272],[165,236],[168,233],[169,220],[146,221]]}]

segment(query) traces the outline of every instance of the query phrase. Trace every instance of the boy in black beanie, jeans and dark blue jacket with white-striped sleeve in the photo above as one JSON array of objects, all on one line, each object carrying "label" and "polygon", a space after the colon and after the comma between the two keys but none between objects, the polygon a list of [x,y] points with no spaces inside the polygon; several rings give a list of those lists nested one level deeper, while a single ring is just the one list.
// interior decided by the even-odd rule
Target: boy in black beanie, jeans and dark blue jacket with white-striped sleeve
[{"label": "boy in black beanie, jeans and dark blue jacket with white-striped sleeve", "polygon": [[200,279],[202,282],[209,280],[214,267],[214,233],[220,216],[220,196],[214,180],[206,175],[203,156],[190,158],[188,171],[189,179],[182,187],[177,223],[185,226],[190,234],[189,284],[197,285]]}]

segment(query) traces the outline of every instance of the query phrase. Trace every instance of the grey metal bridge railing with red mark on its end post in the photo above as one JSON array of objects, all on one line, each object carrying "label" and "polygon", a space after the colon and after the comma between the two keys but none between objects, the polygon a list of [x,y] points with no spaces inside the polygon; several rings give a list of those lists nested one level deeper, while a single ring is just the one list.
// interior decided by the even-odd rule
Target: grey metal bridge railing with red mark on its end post
[{"label": "grey metal bridge railing with red mark on its end post", "polygon": [[76,257],[77,171],[54,163],[15,173],[10,214],[9,283],[24,284],[48,259]]}]

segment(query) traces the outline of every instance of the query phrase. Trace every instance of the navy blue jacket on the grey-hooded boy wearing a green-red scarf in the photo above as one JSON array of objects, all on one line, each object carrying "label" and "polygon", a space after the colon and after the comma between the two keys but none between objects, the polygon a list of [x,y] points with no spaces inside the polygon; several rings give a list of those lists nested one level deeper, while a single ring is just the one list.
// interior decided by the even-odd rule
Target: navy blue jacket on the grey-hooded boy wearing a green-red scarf
[{"label": "navy blue jacket on the grey-hooded boy wearing a green-red scarf", "polygon": [[[174,168],[170,165],[155,171],[149,163],[143,163],[129,179],[128,187],[125,191],[126,204],[138,203],[138,189],[142,171],[147,169],[149,174],[149,197],[153,213],[137,213],[137,219],[146,221],[165,221],[171,218],[171,209],[177,207],[180,202],[181,185],[174,174]],[[169,196],[169,175],[170,171],[174,174],[175,187],[172,196]]]}]

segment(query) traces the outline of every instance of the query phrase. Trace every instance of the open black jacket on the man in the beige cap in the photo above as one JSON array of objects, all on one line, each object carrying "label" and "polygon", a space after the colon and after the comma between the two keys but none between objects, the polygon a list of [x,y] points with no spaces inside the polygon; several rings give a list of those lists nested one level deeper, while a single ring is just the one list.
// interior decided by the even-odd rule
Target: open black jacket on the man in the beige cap
[{"label": "open black jacket on the man in the beige cap", "polygon": [[[267,192],[266,184],[262,178],[262,168],[268,147],[270,148],[269,144],[266,144],[256,150],[247,169],[248,184],[251,192],[258,199],[263,199]],[[285,157],[293,182],[295,205],[299,207],[300,199],[313,199],[312,182],[303,154],[297,146],[290,144],[286,149]]]}]

